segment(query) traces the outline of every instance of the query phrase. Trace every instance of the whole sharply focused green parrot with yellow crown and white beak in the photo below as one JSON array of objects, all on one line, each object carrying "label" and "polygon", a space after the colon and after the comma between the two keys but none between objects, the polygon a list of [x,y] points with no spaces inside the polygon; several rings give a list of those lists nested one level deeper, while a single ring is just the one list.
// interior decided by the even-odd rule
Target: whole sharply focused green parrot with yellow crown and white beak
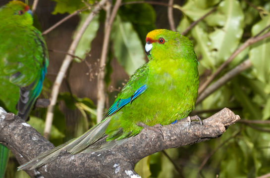
[{"label": "whole sharply focused green parrot with yellow crown and white beak", "polygon": [[158,29],[148,33],[142,65],[118,93],[101,123],[85,134],[49,150],[18,169],[35,169],[62,150],[71,154],[119,145],[147,126],[168,125],[188,116],[198,95],[198,61],[191,41],[180,33]]}]

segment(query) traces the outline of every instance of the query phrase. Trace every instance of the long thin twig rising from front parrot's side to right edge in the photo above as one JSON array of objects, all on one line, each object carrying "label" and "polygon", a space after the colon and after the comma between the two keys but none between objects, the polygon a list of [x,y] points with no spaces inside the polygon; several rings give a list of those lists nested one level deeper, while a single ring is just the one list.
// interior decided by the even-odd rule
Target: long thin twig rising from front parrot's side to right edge
[{"label": "long thin twig rising from front parrot's side to right edge", "polygon": [[[259,32],[261,33],[261,32]],[[238,47],[232,54],[231,56],[225,61],[223,62],[219,68],[216,70],[216,72],[214,74],[212,74],[208,80],[203,83],[203,85],[199,88],[199,95],[207,88],[207,86],[215,79],[215,77],[242,51],[244,50],[247,46],[249,45],[253,45],[261,40],[264,40],[266,38],[270,37],[270,32],[259,36],[259,37],[251,37],[250,39],[248,39],[243,45],[241,45],[240,47]]]}]

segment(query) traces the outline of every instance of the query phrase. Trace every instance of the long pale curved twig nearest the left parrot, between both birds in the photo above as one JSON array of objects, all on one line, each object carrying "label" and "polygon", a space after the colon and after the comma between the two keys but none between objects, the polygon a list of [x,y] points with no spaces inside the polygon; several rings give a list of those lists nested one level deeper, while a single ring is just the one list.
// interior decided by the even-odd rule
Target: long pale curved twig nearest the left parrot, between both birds
[{"label": "long pale curved twig nearest the left parrot, between both birds", "polygon": [[59,69],[59,72],[57,74],[57,77],[54,81],[54,86],[52,89],[52,94],[51,94],[51,104],[48,107],[47,110],[47,115],[46,115],[46,122],[45,122],[45,128],[44,128],[44,137],[49,139],[50,137],[50,132],[52,128],[52,123],[53,123],[53,117],[54,117],[54,106],[56,104],[59,88],[61,86],[61,83],[63,81],[63,78],[65,76],[65,73],[72,62],[73,57],[69,54],[74,55],[75,49],[90,22],[94,18],[94,16],[97,14],[97,12],[102,8],[102,6],[105,4],[107,0],[101,0],[98,4],[95,5],[93,11],[88,15],[86,20],[84,21],[82,27],[79,29],[78,33],[76,34],[72,44],[70,45],[68,49],[68,55],[65,56],[65,59],[63,60],[63,63]]}]

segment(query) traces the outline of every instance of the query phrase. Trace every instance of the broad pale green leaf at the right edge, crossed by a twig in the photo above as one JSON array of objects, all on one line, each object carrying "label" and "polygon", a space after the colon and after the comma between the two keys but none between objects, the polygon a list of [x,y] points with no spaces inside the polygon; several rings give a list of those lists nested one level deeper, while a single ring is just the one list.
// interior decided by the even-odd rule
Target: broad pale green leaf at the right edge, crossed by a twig
[{"label": "broad pale green leaf at the right edge, crossed by a twig", "polygon": [[[252,35],[255,36],[266,26],[270,24],[270,15],[264,17],[260,22],[252,27]],[[264,82],[270,82],[270,39],[262,40],[252,45],[249,56],[250,60],[255,68],[256,77]]]}]

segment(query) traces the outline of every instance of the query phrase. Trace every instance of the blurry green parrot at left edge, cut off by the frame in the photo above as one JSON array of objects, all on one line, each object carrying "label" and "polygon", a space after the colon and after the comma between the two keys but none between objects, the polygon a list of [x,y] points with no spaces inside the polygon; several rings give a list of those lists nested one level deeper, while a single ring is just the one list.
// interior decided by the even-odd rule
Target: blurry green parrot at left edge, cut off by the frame
[{"label": "blurry green parrot at left edge, cut off by the frame", "polygon": [[[15,0],[0,7],[0,19],[0,106],[26,120],[47,73],[47,46],[25,3]],[[0,145],[0,178],[8,152]]]}]

